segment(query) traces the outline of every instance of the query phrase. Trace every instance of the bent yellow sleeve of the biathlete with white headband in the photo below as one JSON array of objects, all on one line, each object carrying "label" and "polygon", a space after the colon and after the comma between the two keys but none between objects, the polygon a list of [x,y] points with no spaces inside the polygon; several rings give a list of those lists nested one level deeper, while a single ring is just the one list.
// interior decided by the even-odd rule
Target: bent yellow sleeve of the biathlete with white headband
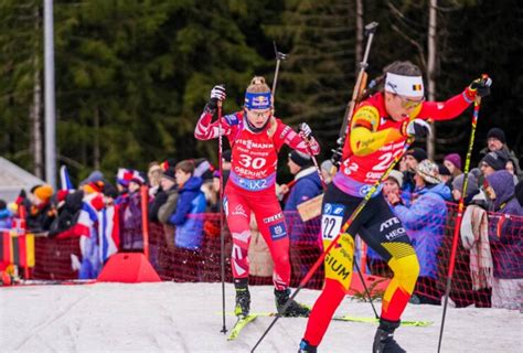
[{"label": "bent yellow sleeve of the biathlete with white headband", "polygon": [[363,106],[356,110],[351,124],[351,150],[355,156],[367,156],[382,146],[402,138],[397,129],[377,131],[380,113],[373,106]]}]

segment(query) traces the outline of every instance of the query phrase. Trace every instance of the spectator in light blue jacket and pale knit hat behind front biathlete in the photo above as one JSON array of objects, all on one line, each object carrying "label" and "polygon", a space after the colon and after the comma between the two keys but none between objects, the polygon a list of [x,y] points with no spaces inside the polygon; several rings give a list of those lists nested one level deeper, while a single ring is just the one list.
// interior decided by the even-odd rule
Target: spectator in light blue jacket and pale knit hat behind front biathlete
[{"label": "spectator in light blue jacket and pale knit hat behind front biathlete", "polygon": [[[415,189],[409,206],[391,196],[394,213],[402,221],[419,259],[419,278],[414,303],[439,304],[441,292],[437,288],[438,249],[445,234],[447,221],[446,200],[450,200],[450,189],[440,181],[438,165],[426,159],[416,167]],[[394,235],[391,235],[392,237]]]}]

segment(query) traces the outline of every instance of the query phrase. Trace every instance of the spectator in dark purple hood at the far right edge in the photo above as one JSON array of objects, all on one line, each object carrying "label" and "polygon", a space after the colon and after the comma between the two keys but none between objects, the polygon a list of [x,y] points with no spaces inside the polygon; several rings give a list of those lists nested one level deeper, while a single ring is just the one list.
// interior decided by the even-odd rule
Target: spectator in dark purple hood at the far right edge
[{"label": "spectator in dark purple hood at the far right edge", "polygon": [[489,220],[494,263],[492,307],[522,310],[523,207],[514,197],[511,173],[501,170],[488,175],[485,193],[495,212]]}]

